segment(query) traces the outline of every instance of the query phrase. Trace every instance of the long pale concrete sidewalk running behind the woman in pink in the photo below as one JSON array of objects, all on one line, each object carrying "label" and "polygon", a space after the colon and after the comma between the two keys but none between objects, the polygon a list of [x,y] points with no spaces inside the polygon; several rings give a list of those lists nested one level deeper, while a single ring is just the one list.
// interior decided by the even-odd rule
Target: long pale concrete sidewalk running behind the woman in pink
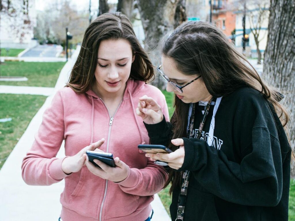
[{"label": "long pale concrete sidewalk running behind the woman in pink", "polygon": [[[78,52],[79,49],[76,50],[72,59],[70,59],[61,70],[55,88],[50,88],[50,96],[34,116],[0,170],[0,220],[58,220],[61,211],[59,198],[64,188],[64,181],[51,186],[29,186],[22,180],[21,164],[23,157],[32,146],[34,134],[37,133],[42,121],[43,112],[50,105],[56,91],[62,88],[67,82],[70,71],[78,56]],[[3,86],[0,86],[0,88],[3,88]],[[5,88],[8,90],[10,86],[5,86]],[[57,157],[65,155],[63,145],[64,144],[62,144]],[[154,210],[153,221],[171,220],[158,194],[155,195],[152,207]]]}]

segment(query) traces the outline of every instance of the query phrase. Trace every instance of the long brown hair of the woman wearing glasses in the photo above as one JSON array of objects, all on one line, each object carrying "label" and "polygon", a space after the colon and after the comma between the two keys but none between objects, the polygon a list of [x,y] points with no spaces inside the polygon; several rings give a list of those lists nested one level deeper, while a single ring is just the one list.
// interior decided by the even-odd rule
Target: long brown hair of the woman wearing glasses
[{"label": "long brown hair of the woman wearing glasses", "polygon": [[[172,58],[176,68],[185,75],[201,75],[202,80],[214,97],[226,96],[242,86],[255,88],[273,105],[285,126],[289,120],[284,107],[278,103],[280,93],[269,87],[260,78],[253,66],[240,55],[221,30],[206,22],[188,22],[177,27],[162,47],[162,54]],[[246,65],[248,63],[248,65]],[[249,67],[250,66],[250,67]],[[251,68],[252,67],[252,68]],[[174,101],[175,112],[173,139],[186,137],[189,104],[177,96]],[[169,145],[176,150],[178,147]],[[180,184],[180,172],[171,170],[165,187],[172,182],[172,190]]]}]

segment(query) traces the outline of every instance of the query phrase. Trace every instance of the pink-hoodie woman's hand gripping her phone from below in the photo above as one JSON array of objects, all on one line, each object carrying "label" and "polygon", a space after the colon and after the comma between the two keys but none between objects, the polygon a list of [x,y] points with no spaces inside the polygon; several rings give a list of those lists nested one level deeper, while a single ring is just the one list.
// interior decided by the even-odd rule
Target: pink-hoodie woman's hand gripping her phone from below
[{"label": "pink-hoodie woman's hand gripping her phone from below", "polygon": [[114,159],[116,165],[115,167],[108,166],[97,159],[94,159],[93,161],[101,168],[94,166],[90,161],[88,161],[88,159],[86,160],[85,164],[91,173],[98,177],[101,177],[102,179],[108,179],[113,182],[120,182],[128,177],[129,166],[127,166],[127,164],[120,160],[119,157],[116,157]]}]

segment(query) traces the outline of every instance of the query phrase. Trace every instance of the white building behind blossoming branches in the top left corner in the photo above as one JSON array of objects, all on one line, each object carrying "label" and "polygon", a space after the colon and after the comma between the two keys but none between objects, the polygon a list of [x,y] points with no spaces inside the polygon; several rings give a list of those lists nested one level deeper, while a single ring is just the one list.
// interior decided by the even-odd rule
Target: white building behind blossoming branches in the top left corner
[{"label": "white building behind blossoming branches in the top left corner", "polygon": [[36,26],[35,0],[2,0],[0,43],[1,48],[28,48],[37,44],[33,40]]}]

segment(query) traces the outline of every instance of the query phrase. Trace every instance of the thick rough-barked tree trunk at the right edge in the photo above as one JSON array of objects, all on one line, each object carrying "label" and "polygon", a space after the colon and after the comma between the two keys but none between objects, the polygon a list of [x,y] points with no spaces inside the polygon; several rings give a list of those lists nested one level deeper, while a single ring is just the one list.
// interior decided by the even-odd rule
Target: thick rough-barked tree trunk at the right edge
[{"label": "thick rough-barked tree trunk at the right edge", "polygon": [[[282,104],[289,111],[289,138],[295,145],[295,0],[271,0],[263,78],[283,90]],[[291,176],[295,163],[291,162]]]}]

